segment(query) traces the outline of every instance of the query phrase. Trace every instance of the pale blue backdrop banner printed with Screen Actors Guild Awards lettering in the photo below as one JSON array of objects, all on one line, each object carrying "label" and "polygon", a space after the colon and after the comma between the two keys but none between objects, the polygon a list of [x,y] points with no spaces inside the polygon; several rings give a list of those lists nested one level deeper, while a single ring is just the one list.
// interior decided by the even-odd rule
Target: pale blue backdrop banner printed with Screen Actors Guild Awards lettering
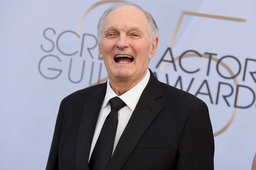
[{"label": "pale blue backdrop banner printed with Screen Actors Guild Awards lettering", "polygon": [[[0,169],[45,169],[61,100],[106,81],[96,26],[112,2],[0,2]],[[252,169],[256,1],[131,2],[149,11],[160,30],[149,68],[207,103],[215,169]]]}]

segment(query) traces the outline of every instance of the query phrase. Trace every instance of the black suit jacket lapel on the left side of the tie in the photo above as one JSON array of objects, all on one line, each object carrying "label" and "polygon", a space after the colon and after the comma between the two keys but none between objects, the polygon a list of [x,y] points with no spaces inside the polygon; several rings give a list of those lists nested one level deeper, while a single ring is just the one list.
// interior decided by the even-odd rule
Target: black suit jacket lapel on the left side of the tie
[{"label": "black suit jacket lapel on the left side of the tie", "polygon": [[88,160],[91,141],[94,135],[99,111],[106,94],[106,88],[107,85],[105,83],[99,90],[93,92],[92,99],[84,105],[76,151],[76,166],[78,170],[89,170]]}]

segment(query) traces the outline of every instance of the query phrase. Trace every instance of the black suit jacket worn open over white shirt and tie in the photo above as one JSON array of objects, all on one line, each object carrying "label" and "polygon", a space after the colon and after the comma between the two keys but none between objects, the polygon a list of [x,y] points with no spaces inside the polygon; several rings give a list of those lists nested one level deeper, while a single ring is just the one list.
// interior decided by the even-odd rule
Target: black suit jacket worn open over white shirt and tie
[{"label": "black suit jacket worn open over white shirt and tie", "polygon": [[[108,170],[214,169],[214,138],[206,104],[150,74]],[[106,83],[95,85],[63,99],[47,170],[89,170],[91,141],[106,87]]]}]

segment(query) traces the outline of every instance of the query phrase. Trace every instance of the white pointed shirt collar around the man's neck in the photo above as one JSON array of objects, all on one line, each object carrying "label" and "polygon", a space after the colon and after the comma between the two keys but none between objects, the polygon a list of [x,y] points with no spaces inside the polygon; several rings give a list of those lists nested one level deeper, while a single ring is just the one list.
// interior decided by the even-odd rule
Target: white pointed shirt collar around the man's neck
[{"label": "white pointed shirt collar around the man's neck", "polygon": [[121,96],[116,95],[116,93],[110,87],[110,84],[108,81],[103,108],[105,108],[105,106],[108,104],[108,101],[111,98],[118,96],[119,98],[121,98],[124,101],[124,103],[127,104],[127,106],[132,111],[134,111],[134,109],[140,99],[141,93],[143,92],[146,85],[148,84],[149,78],[150,78],[150,72],[148,70],[146,76],[137,85],[135,85],[133,88],[131,88],[129,91],[125,92]]}]

